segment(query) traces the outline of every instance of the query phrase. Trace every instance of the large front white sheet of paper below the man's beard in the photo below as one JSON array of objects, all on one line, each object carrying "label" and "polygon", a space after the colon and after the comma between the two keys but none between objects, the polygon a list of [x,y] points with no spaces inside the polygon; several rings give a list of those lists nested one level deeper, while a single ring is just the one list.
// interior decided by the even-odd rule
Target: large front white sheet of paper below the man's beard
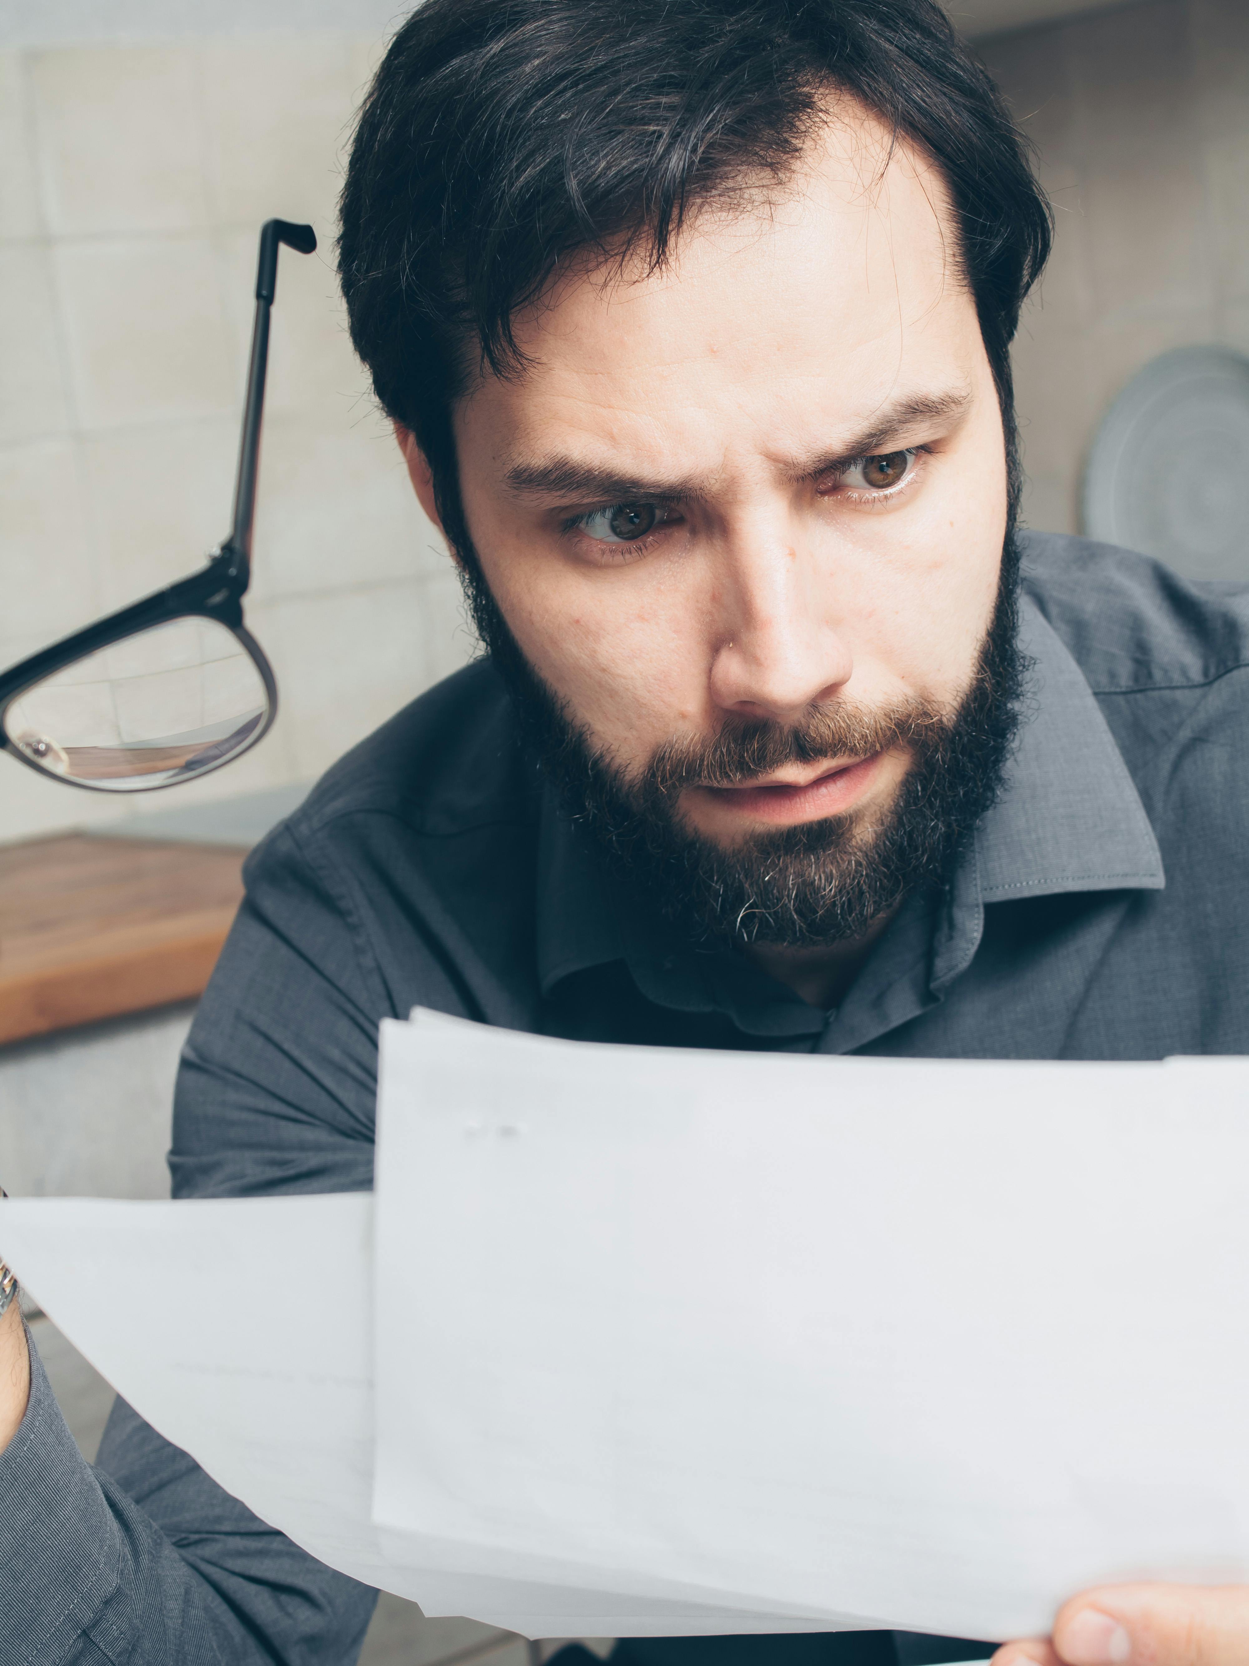
[{"label": "large front white sheet of paper below the man's beard", "polygon": [[1244,1060],[386,1025],[383,1546],[979,1638],[1249,1578],[1246,1105]]}]

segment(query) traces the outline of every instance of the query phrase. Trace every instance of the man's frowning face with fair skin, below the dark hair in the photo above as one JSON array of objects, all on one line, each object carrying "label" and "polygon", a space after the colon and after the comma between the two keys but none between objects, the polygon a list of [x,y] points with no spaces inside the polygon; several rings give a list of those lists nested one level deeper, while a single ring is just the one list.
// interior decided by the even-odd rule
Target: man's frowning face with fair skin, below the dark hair
[{"label": "man's frowning face with fair skin, below the dark hair", "polygon": [[[943,183],[886,145],[829,125],[664,270],[571,273],[516,320],[523,375],[455,412],[521,653],[621,781],[678,760],[673,818],[723,851],[879,825],[914,761],[891,720],[958,710],[994,611],[998,397]],[[798,730],[818,755],[681,765]]]}]

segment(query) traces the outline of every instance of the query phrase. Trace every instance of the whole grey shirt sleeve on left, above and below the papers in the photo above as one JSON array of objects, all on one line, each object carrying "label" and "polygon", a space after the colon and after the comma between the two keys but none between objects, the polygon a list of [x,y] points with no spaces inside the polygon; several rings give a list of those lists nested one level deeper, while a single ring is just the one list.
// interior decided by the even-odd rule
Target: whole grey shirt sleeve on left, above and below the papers
[{"label": "whole grey shirt sleeve on left, above and below the papers", "polygon": [[[350,898],[281,828],[246,883],[183,1055],[173,1193],[368,1190],[386,1008]],[[92,1469],[33,1344],[30,1404],[0,1454],[0,1661],[28,1666],[348,1666],[376,1601],[123,1403]]]}]

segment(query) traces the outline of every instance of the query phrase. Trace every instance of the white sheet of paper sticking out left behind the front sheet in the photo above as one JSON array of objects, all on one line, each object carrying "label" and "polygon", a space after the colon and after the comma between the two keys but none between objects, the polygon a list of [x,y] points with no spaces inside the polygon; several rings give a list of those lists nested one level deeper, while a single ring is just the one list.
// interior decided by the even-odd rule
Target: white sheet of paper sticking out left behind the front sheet
[{"label": "white sheet of paper sticking out left behind the front sheet", "polygon": [[331,1568],[426,1614],[525,1636],[620,1636],[603,1624],[618,1609],[638,1634],[698,1629],[618,1591],[466,1576],[436,1536],[383,1553],[370,1519],[371,1196],[8,1198],[0,1254],[153,1428]]}]

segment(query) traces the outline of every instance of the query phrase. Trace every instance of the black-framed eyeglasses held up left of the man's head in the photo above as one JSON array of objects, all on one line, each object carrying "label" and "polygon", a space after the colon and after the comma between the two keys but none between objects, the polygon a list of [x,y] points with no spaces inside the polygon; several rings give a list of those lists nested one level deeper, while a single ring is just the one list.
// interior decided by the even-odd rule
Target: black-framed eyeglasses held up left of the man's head
[{"label": "black-framed eyeglasses held up left of the man's head", "polygon": [[0,745],[40,775],[97,793],[178,786],[240,758],[276,716],[278,685],[243,625],[243,595],[278,243],[311,255],[316,233],[286,220],[260,233],[230,536],[203,571],[0,673]]}]

